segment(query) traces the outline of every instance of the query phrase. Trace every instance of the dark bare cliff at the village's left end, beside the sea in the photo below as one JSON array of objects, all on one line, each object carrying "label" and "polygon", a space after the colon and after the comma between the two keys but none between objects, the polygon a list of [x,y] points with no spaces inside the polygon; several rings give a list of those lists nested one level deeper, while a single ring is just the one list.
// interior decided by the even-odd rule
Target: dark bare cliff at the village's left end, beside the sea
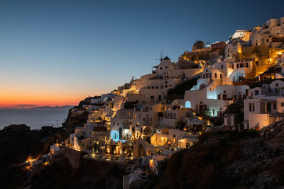
[{"label": "dark bare cliff at the village's left end, beside the sea", "polygon": [[66,129],[67,133],[72,133],[75,127],[84,126],[84,123],[86,123],[88,119],[87,111],[81,110],[82,108],[77,108],[78,111],[73,112],[72,109],[69,110],[67,119],[62,123],[62,127]]}]

